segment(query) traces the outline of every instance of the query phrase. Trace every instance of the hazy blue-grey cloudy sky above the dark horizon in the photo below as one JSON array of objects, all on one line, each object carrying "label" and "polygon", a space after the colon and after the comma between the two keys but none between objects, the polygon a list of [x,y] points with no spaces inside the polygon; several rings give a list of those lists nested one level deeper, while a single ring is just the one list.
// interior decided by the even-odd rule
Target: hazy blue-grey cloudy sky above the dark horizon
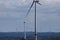
[{"label": "hazy blue-grey cloudy sky above the dark horizon", "polygon": [[[32,0],[0,0],[0,32],[34,31],[34,6],[24,18]],[[38,32],[60,32],[60,0],[40,0],[37,4]]]}]

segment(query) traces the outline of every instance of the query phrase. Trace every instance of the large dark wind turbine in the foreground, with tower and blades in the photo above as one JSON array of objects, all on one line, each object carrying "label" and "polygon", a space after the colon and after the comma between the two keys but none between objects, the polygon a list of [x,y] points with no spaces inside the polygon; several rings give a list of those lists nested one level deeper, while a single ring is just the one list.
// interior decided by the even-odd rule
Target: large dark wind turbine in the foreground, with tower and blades
[{"label": "large dark wind turbine in the foreground, with tower and blades", "polygon": [[40,3],[39,3],[39,0],[33,0],[33,2],[32,2],[32,4],[31,4],[31,6],[30,6],[30,8],[29,8],[29,10],[28,10],[28,12],[27,12],[27,15],[26,15],[26,17],[28,16],[28,14],[29,14],[29,12],[30,12],[30,10],[31,10],[31,8],[33,7],[33,5],[35,4],[35,40],[37,40],[37,17],[36,17],[36,4],[39,4],[39,5],[41,5]]}]

